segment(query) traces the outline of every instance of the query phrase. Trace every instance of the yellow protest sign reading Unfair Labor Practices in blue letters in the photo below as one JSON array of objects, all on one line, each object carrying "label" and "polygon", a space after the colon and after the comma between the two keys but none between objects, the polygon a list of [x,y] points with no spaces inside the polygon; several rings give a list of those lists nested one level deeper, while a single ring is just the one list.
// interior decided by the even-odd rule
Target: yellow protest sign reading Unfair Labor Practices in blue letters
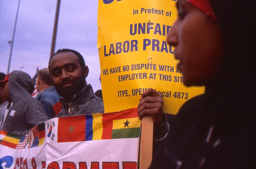
[{"label": "yellow protest sign reading Unfair Labor Practices in blue letters", "polygon": [[166,37],[177,18],[175,0],[99,0],[98,43],[105,112],[137,107],[148,88],[164,99],[164,112],[176,114],[203,93],[187,88]]}]

